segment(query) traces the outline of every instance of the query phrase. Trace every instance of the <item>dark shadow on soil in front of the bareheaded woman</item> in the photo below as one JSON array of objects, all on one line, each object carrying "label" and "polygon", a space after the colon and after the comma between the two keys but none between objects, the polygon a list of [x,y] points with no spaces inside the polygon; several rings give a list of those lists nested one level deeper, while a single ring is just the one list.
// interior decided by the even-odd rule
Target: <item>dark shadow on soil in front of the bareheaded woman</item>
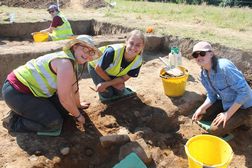
[{"label": "dark shadow on soil in front of the bareheaded woman", "polygon": [[177,133],[179,122],[176,114],[168,115],[163,109],[149,106],[139,97],[132,97],[127,98],[127,104],[122,101],[110,104],[101,115],[113,115],[118,126],[141,134],[148,145],[170,149],[175,155],[186,158],[184,144],[187,139]]}]

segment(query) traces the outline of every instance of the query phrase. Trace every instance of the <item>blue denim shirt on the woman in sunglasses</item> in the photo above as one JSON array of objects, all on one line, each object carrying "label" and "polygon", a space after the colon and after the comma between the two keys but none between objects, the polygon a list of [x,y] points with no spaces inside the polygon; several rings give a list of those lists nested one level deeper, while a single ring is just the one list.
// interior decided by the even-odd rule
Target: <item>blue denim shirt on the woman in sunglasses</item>
[{"label": "blue denim shirt on the woman in sunglasses", "polygon": [[214,103],[220,99],[223,109],[228,110],[234,103],[241,104],[242,109],[252,106],[252,90],[243,74],[227,59],[218,59],[216,71],[201,71],[201,82],[207,90],[207,98]]}]

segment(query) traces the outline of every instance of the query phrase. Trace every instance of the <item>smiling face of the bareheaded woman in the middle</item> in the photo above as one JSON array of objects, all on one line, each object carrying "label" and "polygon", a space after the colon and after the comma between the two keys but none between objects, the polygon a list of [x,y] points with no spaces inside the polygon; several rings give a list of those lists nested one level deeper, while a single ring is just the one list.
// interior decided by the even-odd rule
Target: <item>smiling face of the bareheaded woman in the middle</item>
[{"label": "smiling face of the bareheaded woman in the middle", "polygon": [[136,57],[144,48],[143,40],[138,36],[131,36],[126,41],[126,56],[129,58]]}]

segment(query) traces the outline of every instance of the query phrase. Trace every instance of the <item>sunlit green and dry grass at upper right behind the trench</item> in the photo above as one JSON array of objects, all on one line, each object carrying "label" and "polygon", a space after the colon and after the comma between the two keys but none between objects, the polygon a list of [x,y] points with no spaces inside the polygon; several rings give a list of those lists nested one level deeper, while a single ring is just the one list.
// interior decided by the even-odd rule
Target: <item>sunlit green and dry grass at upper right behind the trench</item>
[{"label": "sunlit green and dry grass at upper right behind the trench", "polygon": [[[207,40],[229,47],[252,50],[252,9],[221,8],[206,5],[184,5],[158,2],[116,0],[111,15],[142,18],[139,27],[147,24],[165,35]],[[147,23],[146,23],[147,22]]]}]

